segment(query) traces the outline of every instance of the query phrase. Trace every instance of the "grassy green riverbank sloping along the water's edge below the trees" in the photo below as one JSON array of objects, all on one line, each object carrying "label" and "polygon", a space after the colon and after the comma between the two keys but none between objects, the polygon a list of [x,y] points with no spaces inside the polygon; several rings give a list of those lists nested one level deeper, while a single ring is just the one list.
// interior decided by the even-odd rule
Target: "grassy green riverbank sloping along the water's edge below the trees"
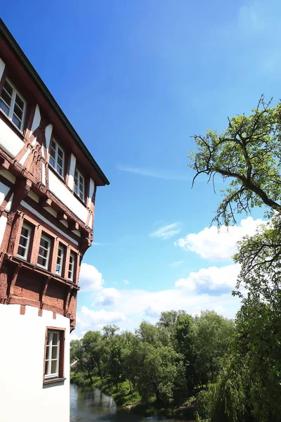
[{"label": "grassy green riverbank sloping along the water's edge below the trees", "polygon": [[190,397],[182,406],[178,408],[163,407],[157,403],[156,398],[150,402],[141,403],[141,397],[137,392],[131,394],[130,385],[127,381],[119,383],[118,386],[112,385],[107,379],[101,379],[98,376],[84,378],[82,373],[70,373],[70,383],[75,385],[93,386],[106,394],[110,395],[117,406],[124,407],[132,413],[142,416],[164,416],[166,418],[181,418],[185,421],[195,420],[195,411],[197,410],[195,397]]}]

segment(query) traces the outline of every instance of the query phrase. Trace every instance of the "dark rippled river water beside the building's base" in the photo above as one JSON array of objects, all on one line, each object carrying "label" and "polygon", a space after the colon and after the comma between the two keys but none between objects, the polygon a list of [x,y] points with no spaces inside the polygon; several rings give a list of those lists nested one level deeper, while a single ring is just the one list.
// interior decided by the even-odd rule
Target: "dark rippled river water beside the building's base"
[{"label": "dark rippled river water beside the building's base", "polygon": [[[98,388],[77,387],[70,384],[70,422],[154,422],[116,406],[112,397]],[[169,419],[169,422],[179,422]]]}]

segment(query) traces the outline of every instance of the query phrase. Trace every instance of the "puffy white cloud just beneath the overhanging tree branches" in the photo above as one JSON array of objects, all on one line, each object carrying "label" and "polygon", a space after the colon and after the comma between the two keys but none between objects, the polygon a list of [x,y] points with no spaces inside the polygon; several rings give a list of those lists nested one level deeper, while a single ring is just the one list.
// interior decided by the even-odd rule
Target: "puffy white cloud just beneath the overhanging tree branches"
[{"label": "puffy white cloud just beneath the overhanging tree branches", "polygon": [[254,235],[257,227],[264,223],[262,219],[247,217],[241,220],[240,225],[223,225],[219,231],[216,226],[205,227],[199,233],[178,239],[174,244],[208,260],[229,260],[237,250],[237,241],[247,234]]}]

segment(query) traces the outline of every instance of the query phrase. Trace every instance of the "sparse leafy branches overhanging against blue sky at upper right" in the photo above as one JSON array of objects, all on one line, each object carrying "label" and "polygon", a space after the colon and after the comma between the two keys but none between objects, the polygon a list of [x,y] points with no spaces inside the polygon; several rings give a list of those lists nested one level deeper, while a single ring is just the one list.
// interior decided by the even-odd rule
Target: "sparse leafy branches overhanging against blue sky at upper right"
[{"label": "sparse leafy branches overhanging against blue sky at upper right", "polygon": [[208,130],[193,136],[192,186],[200,174],[207,174],[214,188],[216,176],[229,181],[214,217],[218,225],[236,223],[237,214],[255,206],[266,205],[269,217],[281,211],[281,104],[270,106],[261,96],[251,115],[228,118],[222,134]]}]

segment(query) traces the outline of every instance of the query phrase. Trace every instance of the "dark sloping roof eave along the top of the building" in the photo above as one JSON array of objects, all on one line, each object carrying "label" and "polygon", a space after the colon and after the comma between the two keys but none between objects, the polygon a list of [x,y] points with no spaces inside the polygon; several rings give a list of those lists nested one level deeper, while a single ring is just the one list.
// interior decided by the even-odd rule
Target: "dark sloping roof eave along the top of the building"
[{"label": "dark sloping roof eave along the top of the building", "polygon": [[74,140],[77,141],[81,150],[84,152],[86,157],[89,159],[89,162],[91,163],[93,168],[98,173],[98,176],[100,177],[100,179],[102,179],[102,181],[105,185],[109,185],[110,182],[108,181],[107,177],[103,173],[103,170],[100,169],[98,163],[96,162],[96,160],[94,160],[90,151],[88,150],[88,148],[86,147],[84,142],[81,140],[80,136],[77,134],[74,127],[72,126],[70,121],[67,119],[65,113],[63,113],[63,110],[60,108],[58,103],[55,101],[55,98],[53,98],[51,92],[48,90],[48,88],[44,84],[41,77],[39,77],[37,71],[34,69],[32,64],[30,63],[30,60],[28,60],[27,56],[25,56],[25,53],[22,51],[22,49],[18,45],[17,41],[15,41],[13,35],[8,30],[8,28],[6,27],[6,25],[4,24],[4,22],[1,18],[0,18],[0,34],[2,34],[4,36],[4,38],[8,41],[8,43],[10,44],[13,51],[15,51],[16,55],[20,58],[22,65],[25,67],[27,72],[32,76],[32,78],[34,79],[34,82],[37,84],[39,89],[41,89],[41,91],[44,93],[44,95],[46,96],[50,105],[53,107],[55,112],[59,115],[60,119],[63,121],[63,123],[65,124],[67,129],[70,131],[70,134],[72,134]]}]

